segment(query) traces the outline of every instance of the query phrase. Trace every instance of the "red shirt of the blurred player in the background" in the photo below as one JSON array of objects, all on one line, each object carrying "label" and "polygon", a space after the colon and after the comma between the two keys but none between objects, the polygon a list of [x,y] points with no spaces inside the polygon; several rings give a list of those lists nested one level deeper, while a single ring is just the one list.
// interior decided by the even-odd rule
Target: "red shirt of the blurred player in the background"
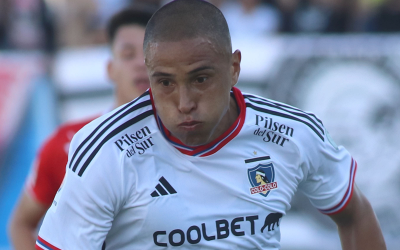
[{"label": "red shirt of the blurred player in the background", "polygon": [[65,174],[72,136],[93,119],[60,125],[41,145],[26,182],[26,190],[34,200],[51,205]]}]

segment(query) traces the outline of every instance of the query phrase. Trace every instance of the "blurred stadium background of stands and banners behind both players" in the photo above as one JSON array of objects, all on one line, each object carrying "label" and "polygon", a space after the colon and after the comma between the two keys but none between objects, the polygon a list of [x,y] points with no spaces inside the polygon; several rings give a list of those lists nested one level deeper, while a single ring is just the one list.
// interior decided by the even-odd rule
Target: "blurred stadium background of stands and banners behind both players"
[{"label": "blurred stadium background of stands and banners behind both players", "polygon": [[[129,4],[166,0],[0,0],[0,249],[35,152],[57,124],[112,105],[104,25]],[[242,51],[238,87],[312,110],[358,161],[389,250],[400,245],[400,1],[213,0]],[[301,194],[282,249],[340,249]]]}]

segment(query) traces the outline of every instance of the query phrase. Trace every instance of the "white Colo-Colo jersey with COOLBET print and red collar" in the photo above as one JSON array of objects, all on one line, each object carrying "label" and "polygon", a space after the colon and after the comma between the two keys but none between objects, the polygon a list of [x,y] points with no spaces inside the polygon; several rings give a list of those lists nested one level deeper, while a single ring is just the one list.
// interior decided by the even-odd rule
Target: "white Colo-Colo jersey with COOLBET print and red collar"
[{"label": "white Colo-Colo jersey with COOLBET print and red collar", "polygon": [[342,210],[356,168],[312,113],[232,89],[234,124],[190,147],[147,91],[83,127],[37,249],[279,249],[297,189]]}]

